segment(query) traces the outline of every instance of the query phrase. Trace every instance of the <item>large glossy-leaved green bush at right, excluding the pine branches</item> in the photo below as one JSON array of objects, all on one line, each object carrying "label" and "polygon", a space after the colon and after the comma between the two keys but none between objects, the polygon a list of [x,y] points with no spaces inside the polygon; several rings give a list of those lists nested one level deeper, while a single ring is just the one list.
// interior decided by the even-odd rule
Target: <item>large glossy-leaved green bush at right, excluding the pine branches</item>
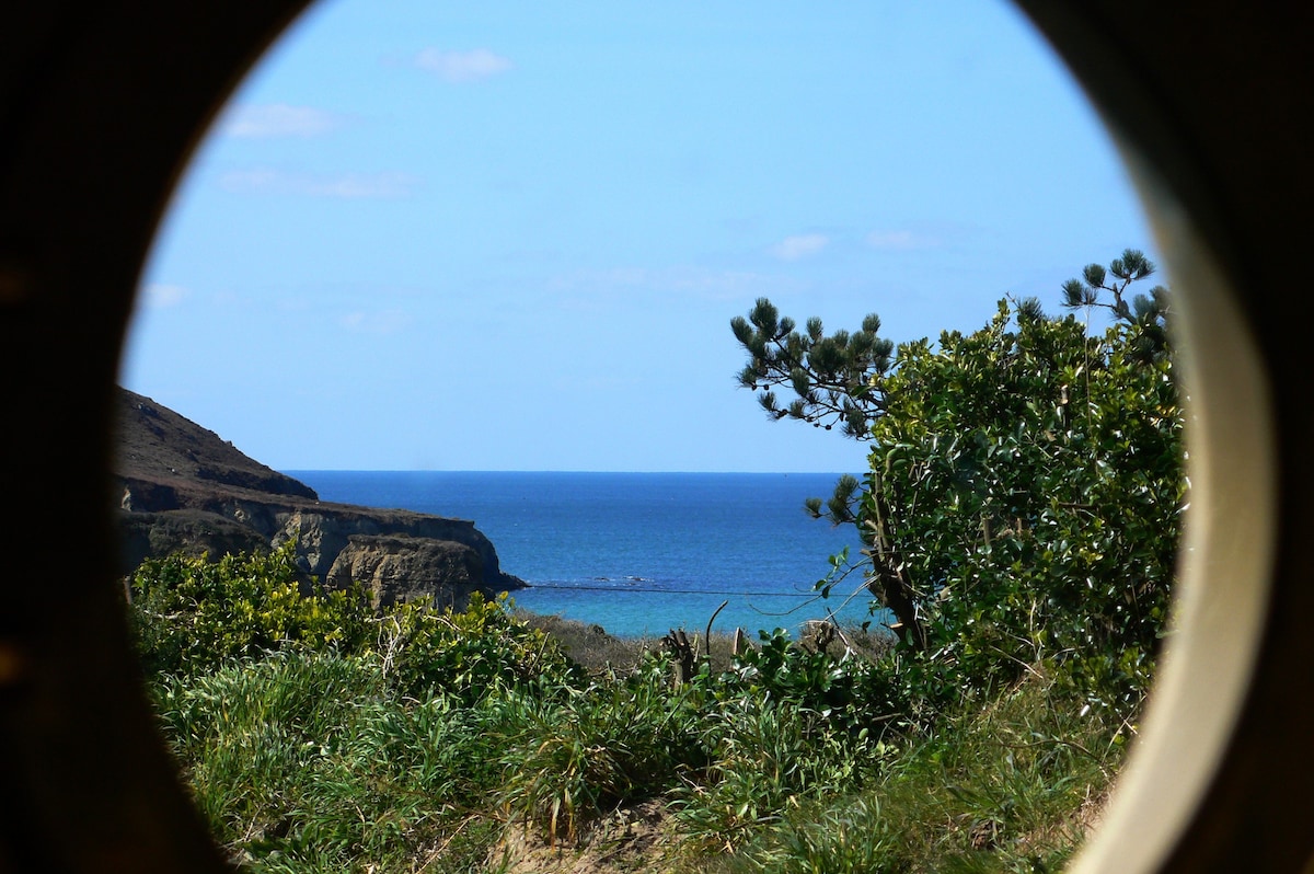
[{"label": "large glossy-leaved green bush at right, excluding the pine branches", "polygon": [[915,598],[924,647],[901,670],[920,695],[1050,664],[1095,704],[1139,703],[1185,477],[1171,359],[1137,336],[1001,301],[980,331],[900,347],[858,515]]}]

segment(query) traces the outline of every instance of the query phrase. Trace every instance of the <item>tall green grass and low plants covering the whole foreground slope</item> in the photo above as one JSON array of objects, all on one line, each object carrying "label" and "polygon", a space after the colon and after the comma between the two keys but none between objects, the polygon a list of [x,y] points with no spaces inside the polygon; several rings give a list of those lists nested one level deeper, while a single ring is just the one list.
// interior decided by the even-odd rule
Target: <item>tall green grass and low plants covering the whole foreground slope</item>
[{"label": "tall green grass and low plants covering the whole foreground slope", "polygon": [[355,649],[290,641],[155,674],[162,731],[231,858],[498,871],[510,835],[572,853],[657,804],[665,863],[690,871],[1051,871],[1127,741],[1043,666],[909,733],[879,640],[778,632],[736,658],[714,640],[673,686],[653,644],[499,610],[409,610]]}]

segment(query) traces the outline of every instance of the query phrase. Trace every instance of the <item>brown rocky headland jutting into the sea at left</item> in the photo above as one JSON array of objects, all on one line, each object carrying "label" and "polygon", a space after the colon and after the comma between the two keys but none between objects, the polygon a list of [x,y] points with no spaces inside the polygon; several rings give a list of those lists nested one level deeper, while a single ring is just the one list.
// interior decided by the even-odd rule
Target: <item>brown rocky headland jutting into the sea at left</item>
[{"label": "brown rocky headland jutting into the sea at left", "polygon": [[524,585],[502,572],[473,522],[319,501],[304,482],[239,452],[168,407],[121,389],[117,476],[125,570],[172,552],[226,553],[294,539],[306,581],[359,582],[377,606]]}]

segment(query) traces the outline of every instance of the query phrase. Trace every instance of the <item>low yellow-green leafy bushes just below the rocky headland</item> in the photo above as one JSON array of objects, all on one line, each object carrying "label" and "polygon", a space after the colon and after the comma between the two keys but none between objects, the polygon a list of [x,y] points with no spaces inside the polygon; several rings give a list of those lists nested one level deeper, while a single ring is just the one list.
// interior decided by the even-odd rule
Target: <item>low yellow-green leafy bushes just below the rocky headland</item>
[{"label": "low yellow-green leafy bushes just below the rocky headland", "polygon": [[[477,698],[497,685],[583,672],[548,633],[512,619],[502,603],[470,595],[463,611],[426,601],[376,614],[360,590],[326,591],[301,580],[294,544],[264,555],[170,556],[129,578],[130,622],[150,673],[200,674],[276,652],[377,653],[403,694],[435,690]],[[307,589],[309,591],[302,591]]]}]

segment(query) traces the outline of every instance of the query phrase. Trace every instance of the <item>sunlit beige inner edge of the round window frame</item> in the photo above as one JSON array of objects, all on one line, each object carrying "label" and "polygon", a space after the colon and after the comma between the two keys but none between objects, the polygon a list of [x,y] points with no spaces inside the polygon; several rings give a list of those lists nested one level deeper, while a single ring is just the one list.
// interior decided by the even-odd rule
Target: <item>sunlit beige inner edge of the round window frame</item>
[{"label": "sunlit beige inner edge of the round window frame", "polygon": [[[1144,175],[1142,192],[1150,188]],[[1175,631],[1144,731],[1074,874],[1159,871],[1217,777],[1257,664],[1269,603],[1276,453],[1272,402],[1252,338],[1185,216],[1147,198],[1173,288],[1189,397],[1190,507],[1180,547]],[[1209,355],[1198,355],[1210,350]],[[1238,514],[1238,507],[1250,507]]]}]

